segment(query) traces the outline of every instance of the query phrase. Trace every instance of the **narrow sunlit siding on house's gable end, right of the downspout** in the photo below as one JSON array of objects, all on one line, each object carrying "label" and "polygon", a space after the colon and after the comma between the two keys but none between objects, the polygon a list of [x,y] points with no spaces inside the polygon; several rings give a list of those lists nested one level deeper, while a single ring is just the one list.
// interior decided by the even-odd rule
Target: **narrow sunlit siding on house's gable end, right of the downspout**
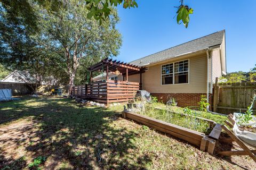
[{"label": "narrow sunlit siding on house's gable end, right of the downspout", "polygon": [[221,60],[220,50],[212,51],[212,82],[215,83],[215,78],[221,77]]}]

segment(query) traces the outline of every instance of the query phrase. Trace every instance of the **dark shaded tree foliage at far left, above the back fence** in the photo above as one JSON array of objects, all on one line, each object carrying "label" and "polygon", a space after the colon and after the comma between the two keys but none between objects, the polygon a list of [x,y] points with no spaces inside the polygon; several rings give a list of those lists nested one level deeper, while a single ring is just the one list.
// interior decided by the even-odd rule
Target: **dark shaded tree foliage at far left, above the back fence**
[{"label": "dark shaded tree foliage at far left, above the back fence", "polygon": [[[33,19],[37,23],[37,12],[31,6],[30,10],[33,11]],[[67,83],[63,78],[65,71],[62,69],[65,63],[62,63],[62,56],[58,51],[38,44],[36,40],[42,37],[38,27],[32,27],[33,24],[29,24],[23,15],[13,16],[9,11],[13,11],[9,6],[0,5],[0,62],[12,70],[29,74],[33,80],[29,79],[26,81],[28,83]]]}]

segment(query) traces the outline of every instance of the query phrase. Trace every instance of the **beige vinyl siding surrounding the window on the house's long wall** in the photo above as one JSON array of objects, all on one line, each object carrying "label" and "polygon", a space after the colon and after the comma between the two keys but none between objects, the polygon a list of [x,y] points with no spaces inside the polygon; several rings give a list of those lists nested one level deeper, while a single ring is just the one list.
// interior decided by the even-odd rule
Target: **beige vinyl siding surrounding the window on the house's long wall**
[{"label": "beige vinyl siding surrounding the window on the house's long wall", "polygon": [[[142,89],[151,93],[205,93],[206,92],[206,53],[182,58],[189,59],[189,83],[161,85],[161,65],[181,61],[170,60],[154,66],[142,73]],[[139,75],[139,74],[138,74]],[[129,77],[129,81],[132,81]]]}]

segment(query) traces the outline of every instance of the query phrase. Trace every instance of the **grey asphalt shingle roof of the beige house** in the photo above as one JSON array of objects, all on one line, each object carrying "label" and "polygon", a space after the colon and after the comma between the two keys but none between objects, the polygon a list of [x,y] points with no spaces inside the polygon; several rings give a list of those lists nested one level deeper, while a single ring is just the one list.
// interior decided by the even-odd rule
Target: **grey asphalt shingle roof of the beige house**
[{"label": "grey asphalt shingle roof of the beige house", "polygon": [[210,35],[189,41],[187,43],[183,43],[178,46],[162,50],[161,52],[139,58],[138,60],[129,63],[133,65],[142,66],[157,61],[162,61],[167,58],[172,58],[178,55],[195,52],[197,50],[205,49],[207,47],[220,45],[222,43],[224,33],[225,30],[218,31]]}]

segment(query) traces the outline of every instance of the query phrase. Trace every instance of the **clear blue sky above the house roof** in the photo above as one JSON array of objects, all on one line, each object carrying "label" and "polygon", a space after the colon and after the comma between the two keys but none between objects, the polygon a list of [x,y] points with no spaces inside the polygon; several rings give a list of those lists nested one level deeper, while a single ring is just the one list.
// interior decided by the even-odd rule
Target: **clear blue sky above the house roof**
[{"label": "clear blue sky above the house roof", "polygon": [[226,30],[227,72],[249,71],[256,64],[255,0],[185,0],[194,9],[188,28],[174,18],[180,0],[137,0],[138,8],[118,6],[124,62]]}]

